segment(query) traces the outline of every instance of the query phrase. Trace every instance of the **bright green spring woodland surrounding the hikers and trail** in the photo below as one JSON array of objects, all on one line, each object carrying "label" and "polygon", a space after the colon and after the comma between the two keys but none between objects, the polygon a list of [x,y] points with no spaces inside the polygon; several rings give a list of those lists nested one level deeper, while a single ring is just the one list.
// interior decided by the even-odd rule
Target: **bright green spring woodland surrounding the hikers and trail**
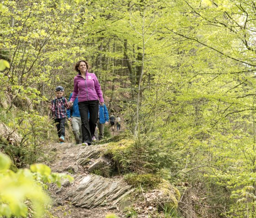
[{"label": "bright green spring woodland surrounding the hikers and trail", "polygon": [[197,217],[256,217],[255,2],[6,0],[0,10],[0,122],[21,136],[1,150],[17,167],[40,162],[54,88],[68,97],[86,59],[136,141],[123,173],[189,187]]}]

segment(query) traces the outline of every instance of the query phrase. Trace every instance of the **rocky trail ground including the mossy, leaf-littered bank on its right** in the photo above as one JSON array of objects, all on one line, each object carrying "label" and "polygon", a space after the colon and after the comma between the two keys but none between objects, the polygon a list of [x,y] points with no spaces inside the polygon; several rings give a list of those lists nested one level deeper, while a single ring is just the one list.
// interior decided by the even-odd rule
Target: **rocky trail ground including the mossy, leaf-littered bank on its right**
[{"label": "rocky trail ground including the mossy, leaf-littered bank on its right", "polygon": [[[133,212],[138,218],[148,218],[149,214],[164,218],[165,213],[177,209],[181,195],[170,182],[154,174],[130,174],[130,179],[126,175],[124,181],[122,176],[112,173],[115,164],[107,156],[109,146],[112,144],[55,143],[47,147],[47,153],[51,155],[49,159],[53,160],[48,165],[53,172],[69,173],[74,177],[73,183],[65,180],[60,188],[56,185],[50,187],[56,208],[59,205],[68,208],[73,214],[70,218],[105,218],[108,213],[124,218]],[[154,189],[144,189],[146,184]],[[135,193],[133,187],[140,187],[143,191]]]}]

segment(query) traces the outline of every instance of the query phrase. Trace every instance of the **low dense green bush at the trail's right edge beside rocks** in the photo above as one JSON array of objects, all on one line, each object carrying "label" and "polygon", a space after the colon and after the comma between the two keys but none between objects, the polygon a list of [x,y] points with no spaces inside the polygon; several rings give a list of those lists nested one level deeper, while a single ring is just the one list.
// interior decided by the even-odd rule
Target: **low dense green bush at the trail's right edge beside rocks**
[{"label": "low dense green bush at the trail's right edge beside rocks", "polygon": [[[165,150],[166,149],[166,150]],[[123,139],[107,145],[106,155],[110,155],[122,172],[139,174],[155,173],[173,162],[171,152],[157,143],[153,137],[141,140]]]}]

